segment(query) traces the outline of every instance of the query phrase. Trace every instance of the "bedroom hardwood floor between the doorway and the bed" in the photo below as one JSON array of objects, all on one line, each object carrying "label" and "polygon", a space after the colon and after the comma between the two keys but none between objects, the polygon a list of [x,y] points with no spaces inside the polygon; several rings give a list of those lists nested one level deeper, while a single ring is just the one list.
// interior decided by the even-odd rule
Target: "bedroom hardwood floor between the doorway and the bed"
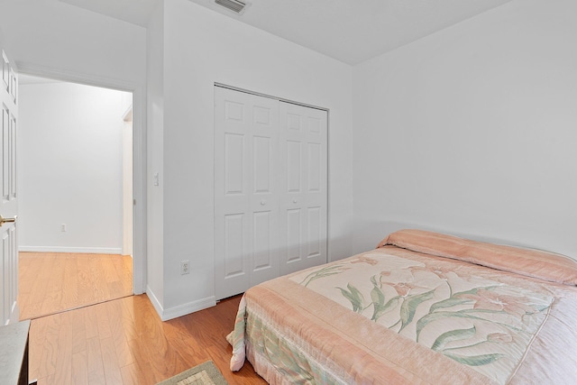
[{"label": "bedroom hardwood floor between the doorway and the bed", "polygon": [[230,385],[266,384],[249,362],[228,369],[225,335],[240,296],[161,322],[146,295],[32,320],[30,378],[50,384],[156,384],[212,360]]}]

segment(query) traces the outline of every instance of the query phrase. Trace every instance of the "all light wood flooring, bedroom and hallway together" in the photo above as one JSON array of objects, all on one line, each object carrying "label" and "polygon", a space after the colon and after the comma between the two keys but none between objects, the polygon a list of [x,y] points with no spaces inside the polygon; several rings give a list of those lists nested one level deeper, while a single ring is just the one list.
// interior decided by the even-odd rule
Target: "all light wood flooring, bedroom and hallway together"
[{"label": "all light wood flooring, bedroom and hallway together", "polygon": [[[31,380],[153,385],[212,360],[230,385],[266,384],[249,362],[241,371],[229,370],[232,348],[225,336],[233,330],[240,296],[162,322],[146,295],[126,297],[132,293],[130,257],[109,257],[20,253],[21,318],[34,318]],[[105,302],[87,306],[99,301]]]}]

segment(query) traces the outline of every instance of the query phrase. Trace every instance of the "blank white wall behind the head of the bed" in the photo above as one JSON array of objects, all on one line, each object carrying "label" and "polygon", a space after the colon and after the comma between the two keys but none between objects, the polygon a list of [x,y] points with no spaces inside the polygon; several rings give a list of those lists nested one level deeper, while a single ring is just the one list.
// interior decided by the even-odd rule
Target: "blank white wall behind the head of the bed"
[{"label": "blank white wall behind the head of the bed", "polygon": [[577,258],[575,20],[513,1],[353,69],[355,252],[418,226]]}]

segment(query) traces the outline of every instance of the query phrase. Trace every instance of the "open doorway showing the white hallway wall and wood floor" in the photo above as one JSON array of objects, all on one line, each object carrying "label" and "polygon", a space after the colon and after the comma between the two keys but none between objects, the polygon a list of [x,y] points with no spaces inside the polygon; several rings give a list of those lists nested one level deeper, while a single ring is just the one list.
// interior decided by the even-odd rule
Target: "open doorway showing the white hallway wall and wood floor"
[{"label": "open doorway showing the white hallway wall and wood floor", "polygon": [[132,101],[20,75],[21,319],[133,294]]}]

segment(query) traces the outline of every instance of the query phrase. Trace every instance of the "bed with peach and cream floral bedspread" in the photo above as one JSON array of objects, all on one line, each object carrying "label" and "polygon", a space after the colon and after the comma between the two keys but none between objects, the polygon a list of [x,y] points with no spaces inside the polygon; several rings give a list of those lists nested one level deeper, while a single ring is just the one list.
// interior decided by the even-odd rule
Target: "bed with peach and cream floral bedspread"
[{"label": "bed with peach and cream floral bedspread", "polygon": [[577,262],[401,230],[247,290],[231,370],[272,384],[577,383]]}]

